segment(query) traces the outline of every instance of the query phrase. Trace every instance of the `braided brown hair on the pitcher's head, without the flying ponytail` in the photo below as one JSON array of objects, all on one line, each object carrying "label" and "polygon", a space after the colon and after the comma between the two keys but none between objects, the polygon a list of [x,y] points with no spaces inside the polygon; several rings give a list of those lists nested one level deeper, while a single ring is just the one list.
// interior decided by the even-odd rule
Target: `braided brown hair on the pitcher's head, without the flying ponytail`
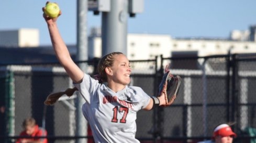
[{"label": "braided brown hair on the pitcher's head, without the flying ponytail", "polygon": [[103,56],[101,58],[101,60],[99,60],[98,73],[101,77],[101,80],[99,80],[99,83],[107,81],[107,75],[106,75],[105,69],[107,67],[112,67],[113,63],[114,63],[114,60],[115,60],[115,56],[120,55],[120,54],[123,54],[123,53],[121,53],[121,52],[112,52],[110,54],[107,54],[107,55]]}]

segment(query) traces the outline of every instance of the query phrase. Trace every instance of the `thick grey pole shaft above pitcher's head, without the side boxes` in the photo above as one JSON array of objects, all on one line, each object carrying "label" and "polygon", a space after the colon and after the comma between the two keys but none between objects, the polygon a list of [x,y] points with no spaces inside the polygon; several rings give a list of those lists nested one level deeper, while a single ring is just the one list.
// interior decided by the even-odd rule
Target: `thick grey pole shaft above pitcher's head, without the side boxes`
[{"label": "thick grey pole shaft above pitcher's head, without the side boxes", "polygon": [[102,12],[102,55],[113,51],[127,54],[128,1],[111,0],[110,11]]}]

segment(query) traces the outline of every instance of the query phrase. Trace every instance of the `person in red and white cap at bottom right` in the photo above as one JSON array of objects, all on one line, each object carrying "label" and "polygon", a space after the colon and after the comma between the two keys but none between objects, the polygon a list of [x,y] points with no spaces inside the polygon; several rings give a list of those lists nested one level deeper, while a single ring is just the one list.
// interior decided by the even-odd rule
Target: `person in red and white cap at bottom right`
[{"label": "person in red and white cap at bottom right", "polygon": [[220,124],[214,129],[212,140],[200,141],[198,143],[232,143],[233,137],[237,137],[228,124]]}]

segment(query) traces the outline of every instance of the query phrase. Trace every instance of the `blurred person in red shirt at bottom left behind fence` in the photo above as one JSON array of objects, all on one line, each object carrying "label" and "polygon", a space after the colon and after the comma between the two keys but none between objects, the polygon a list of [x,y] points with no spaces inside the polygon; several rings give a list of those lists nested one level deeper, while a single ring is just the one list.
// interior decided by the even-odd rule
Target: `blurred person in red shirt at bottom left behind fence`
[{"label": "blurred person in red shirt at bottom left behind fence", "polygon": [[47,136],[47,131],[39,128],[34,118],[25,119],[23,122],[24,131],[22,131],[16,143],[47,143],[47,138],[22,138],[22,137],[41,137]]}]

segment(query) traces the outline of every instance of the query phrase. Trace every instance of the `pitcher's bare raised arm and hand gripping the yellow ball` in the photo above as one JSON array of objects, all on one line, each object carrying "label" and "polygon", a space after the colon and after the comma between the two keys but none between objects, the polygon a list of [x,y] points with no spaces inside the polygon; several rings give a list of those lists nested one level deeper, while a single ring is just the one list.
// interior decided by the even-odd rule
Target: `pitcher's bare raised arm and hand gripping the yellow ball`
[{"label": "pitcher's bare raised arm and hand gripping the yellow ball", "polygon": [[[44,10],[45,7],[42,8]],[[60,14],[61,15],[61,11]],[[55,55],[58,58],[59,62],[65,69],[66,73],[70,76],[74,83],[79,83],[83,79],[84,72],[74,63],[72,60],[69,50],[66,47],[62,37],[59,33],[57,18],[49,18],[43,14],[44,19],[47,22],[52,47],[55,51]]]}]

